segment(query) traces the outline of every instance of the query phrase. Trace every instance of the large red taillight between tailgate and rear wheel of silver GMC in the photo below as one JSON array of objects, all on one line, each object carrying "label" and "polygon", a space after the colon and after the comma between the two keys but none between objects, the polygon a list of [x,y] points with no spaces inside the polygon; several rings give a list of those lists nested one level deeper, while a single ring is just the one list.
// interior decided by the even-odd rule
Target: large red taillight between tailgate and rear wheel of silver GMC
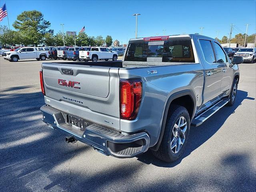
[{"label": "large red taillight between tailgate and rear wheel of silver GMC", "polygon": [[120,79],[120,116],[134,120],[138,114],[142,98],[140,79]]}]

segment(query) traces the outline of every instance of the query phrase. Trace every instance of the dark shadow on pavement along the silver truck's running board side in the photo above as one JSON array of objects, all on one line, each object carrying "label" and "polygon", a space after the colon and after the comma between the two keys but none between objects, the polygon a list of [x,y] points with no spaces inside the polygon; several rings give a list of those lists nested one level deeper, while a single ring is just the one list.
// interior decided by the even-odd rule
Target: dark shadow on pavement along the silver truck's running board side
[{"label": "dark shadow on pavement along the silver truck's running board side", "polygon": [[190,127],[188,143],[178,161],[173,163],[162,162],[155,158],[150,150],[138,156],[138,160],[146,164],[154,164],[160,167],[174,167],[177,164],[180,164],[183,158],[190,155],[191,152],[204,144],[204,142],[206,142],[209,138],[211,138],[220,129],[227,118],[235,112],[236,108],[242,105],[242,101],[245,99],[254,100],[255,98],[248,97],[248,92],[237,90],[236,100],[233,106],[224,106],[214,115],[212,115],[208,120],[206,120],[202,125],[198,127]]}]

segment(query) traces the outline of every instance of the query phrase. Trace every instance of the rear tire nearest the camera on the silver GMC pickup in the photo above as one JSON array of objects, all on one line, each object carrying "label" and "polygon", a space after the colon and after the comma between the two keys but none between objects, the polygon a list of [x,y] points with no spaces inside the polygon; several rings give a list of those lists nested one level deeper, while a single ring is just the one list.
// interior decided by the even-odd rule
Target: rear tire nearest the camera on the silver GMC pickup
[{"label": "rear tire nearest the camera on the silver GMC pickup", "polygon": [[[162,161],[165,162],[174,162],[180,158],[182,155],[182,152],[184,151],[187,141],[188,141],[188,136],[189,136],[189,131],[190,131],[190,117],[188,114],[188,110],[179,105],[171,105],[170,106],[171,114],[168,115],[168,119],[166,121],[166,127],[164,130],[164,136],[162,138],[162,142],[160,144],[160,147],[157,151],[152,151],[154,156]],[[179,122],[180,119],[183,119],[185,124],[186,120],[186,126],[181,126],[177,129],[177,122]],[[185,120],[184,120],[185,119]],[[186,127],[186,128],[185,128]],[[174,131],[173,131],[174,130]],[[181,130],[184,131],[184,136],[182,136]],[[175,133],[175,135],[173,134]],[[184,137],[184,140],[183,140]],[[183,144],[180,144],[180,148],[177,148],[177,142],[180,143],[179,141],[183,141]],[[174,145],[173,148],[171,148],[171,143]],[[174,149],[175,148],[175,149]],[[173,151],[174,150],[174,151]],[[177,150],[177,153],[175,153]]]}]

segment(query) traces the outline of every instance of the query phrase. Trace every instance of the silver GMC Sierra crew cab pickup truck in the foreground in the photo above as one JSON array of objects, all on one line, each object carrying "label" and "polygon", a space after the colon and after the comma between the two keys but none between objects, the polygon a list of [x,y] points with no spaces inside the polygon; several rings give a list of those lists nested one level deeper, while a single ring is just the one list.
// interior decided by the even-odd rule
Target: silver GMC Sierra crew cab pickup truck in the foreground
[{"label": "silver GMC Sierra crew cab pickup truck in the foreground", "polygon": [[136,38],[123,61],[43,63],[42,120],[96,151],[131,158],[152,150],[166,162],[199,126],[236,98],[241,56],[196,34]]}]

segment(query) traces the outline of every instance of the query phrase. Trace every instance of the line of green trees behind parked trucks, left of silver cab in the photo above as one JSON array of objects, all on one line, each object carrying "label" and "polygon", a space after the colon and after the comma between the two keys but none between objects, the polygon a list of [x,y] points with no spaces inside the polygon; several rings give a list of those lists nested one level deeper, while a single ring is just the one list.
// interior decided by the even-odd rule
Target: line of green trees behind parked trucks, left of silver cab
[{"label": "line of green trees behind parked trucks, left of silver cab", "polygon": [[[47,46],[63,46],[62,32],[54,35],[54,30],[50,29],[50,22],[44,20],[44,15],[37,10],[24,11],[17,16],[12,26],[15,30],[9,30],[7,26],[0,26],[0,42],[3,45],[24,44],[25,46],[37,46],[45,44]],[[65,46],[74,46],[74,36],[64,34]],[[77,46],[107,46],[112,45],[112,37],[88,36],[85,32],[76,35]]]}]

